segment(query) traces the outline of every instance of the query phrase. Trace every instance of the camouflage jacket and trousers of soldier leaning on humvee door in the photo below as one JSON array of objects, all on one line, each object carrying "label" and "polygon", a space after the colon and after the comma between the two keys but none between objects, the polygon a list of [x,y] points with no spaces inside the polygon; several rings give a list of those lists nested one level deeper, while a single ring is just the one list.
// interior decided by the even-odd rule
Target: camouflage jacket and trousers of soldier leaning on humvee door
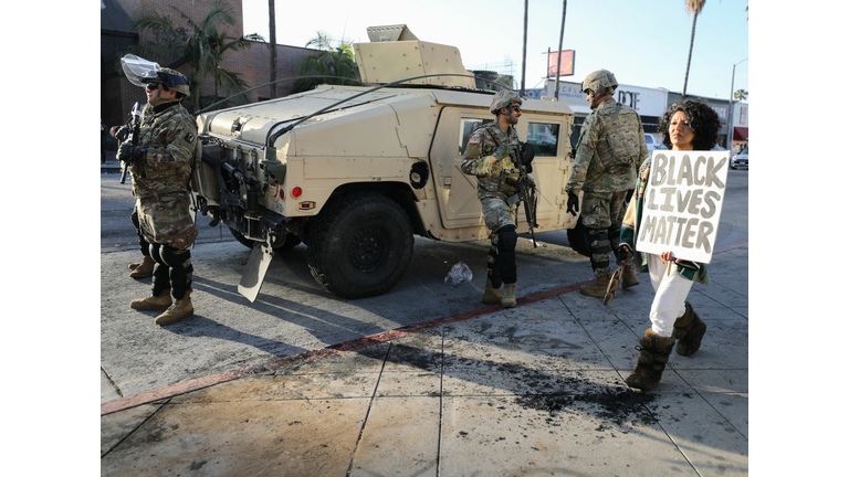
[{"label": "camouflage jacket and trousers of soldier leaning on humvee door", "polygon": [[516,282],[515,253],[499,252],[497,232],[506,225],[516,226],[518,206],[517,202],[507,204],[507,198],[516,193],[516,188],[509,184],[507,179],[518,178],[518,169],[512,157],[507,156],[490,163],[490,157],[502,144],[514,144],[518,147],[515,128],[510,127],[505,132],[496,121],[479,127],[469,137],[461,165],[463,173],[478,178],[478,199],[483,209],[483,220],[491,231],[486,273],[494,288],[501,286],[502,279],[504,283]]}]

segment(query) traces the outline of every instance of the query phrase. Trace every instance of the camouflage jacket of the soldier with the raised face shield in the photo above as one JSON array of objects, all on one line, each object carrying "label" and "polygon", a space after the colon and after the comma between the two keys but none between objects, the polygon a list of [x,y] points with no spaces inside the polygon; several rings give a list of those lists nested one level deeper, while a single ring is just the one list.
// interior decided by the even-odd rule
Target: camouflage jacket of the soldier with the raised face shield
[{"label": "camouflage jacket of the soldier with the raised face shield", "polygon": [[138,147],[145,156],[130,165],[133,194],[142,201],[188,193],[189,174],[199,156],[198,128],[179,103],[155,113],[142,113]]}]

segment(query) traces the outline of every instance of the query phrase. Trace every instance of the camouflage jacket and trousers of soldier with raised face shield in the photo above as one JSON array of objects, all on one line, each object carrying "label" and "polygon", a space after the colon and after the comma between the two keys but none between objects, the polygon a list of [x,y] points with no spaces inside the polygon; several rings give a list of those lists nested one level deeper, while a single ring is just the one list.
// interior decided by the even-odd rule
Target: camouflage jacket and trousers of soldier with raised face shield
[{"label": "camouflage jacket and trousers of soldier with raised face shield", "polygon": [[188,190],[191,168],[200,153],[195,120],[178,102],[148,105],[143,112],[138,147],[147,151],[129,165],[129,171],[139,231],[157,262],[154,296],[170,288],[171,296],[181,299],[190,289],[189,247],[198,236]]}]

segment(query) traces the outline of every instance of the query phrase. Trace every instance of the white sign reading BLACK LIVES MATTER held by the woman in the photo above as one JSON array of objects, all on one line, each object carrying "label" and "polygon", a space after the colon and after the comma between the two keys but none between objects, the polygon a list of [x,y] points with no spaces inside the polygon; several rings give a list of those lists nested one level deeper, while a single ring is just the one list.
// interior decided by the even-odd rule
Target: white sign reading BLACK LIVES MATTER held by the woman
[{"label": "white sign reading BLACK LIVES MATTER held by the woman", "polygon": [[727,177],[729,151],[652,151],[637,250],[711,263]]}]

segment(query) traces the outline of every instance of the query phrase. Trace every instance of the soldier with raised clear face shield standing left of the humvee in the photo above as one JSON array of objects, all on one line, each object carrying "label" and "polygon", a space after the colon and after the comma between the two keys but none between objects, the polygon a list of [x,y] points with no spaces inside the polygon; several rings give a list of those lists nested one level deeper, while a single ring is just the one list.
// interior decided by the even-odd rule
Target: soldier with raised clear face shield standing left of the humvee
[{"label": "soldier with raised clear face shield standing left of the humvee", "polygon": [[156,265],[153,294],[129,306],[165,310],[156,318],[164,326],[193,314],[189,247],[198,231],[189,210],[188,184],[200,146],[195,120],[180,105],[189,96],[186,76],[161,68],[148,72],[142,81],[147,83],[148,114],[143,116],[138,144],[123,142],[118,159],[129,163],[138,229]]}]

